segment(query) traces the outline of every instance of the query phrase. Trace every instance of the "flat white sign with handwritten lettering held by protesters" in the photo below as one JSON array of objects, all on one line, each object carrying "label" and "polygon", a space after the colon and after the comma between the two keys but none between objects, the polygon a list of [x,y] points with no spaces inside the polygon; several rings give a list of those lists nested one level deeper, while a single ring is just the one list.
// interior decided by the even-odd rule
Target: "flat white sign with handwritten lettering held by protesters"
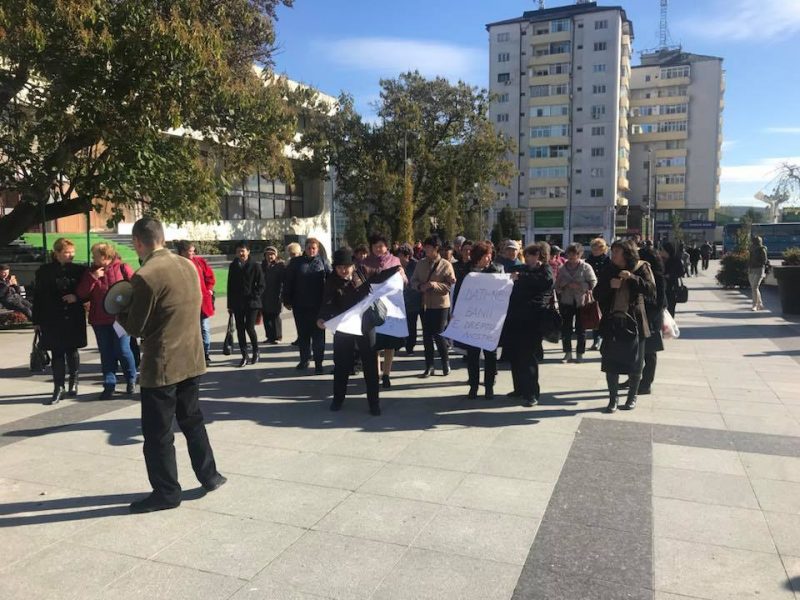
[{"label": "flat white sign with handwritten lettering held by protesters", "polygon": [[469,273],[458,291],[453,316],[442,334],[463,344],[496,350],[514,283],[503,273]]}]

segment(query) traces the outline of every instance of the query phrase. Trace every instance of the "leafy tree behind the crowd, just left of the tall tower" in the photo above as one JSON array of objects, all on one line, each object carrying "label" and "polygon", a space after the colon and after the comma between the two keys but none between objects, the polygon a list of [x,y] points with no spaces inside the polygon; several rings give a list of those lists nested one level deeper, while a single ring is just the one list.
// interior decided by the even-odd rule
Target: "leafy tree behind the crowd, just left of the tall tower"
[{"label": "leafy tree behind the crowd, just left of the tall tower", "polygon": [[508,156],[515,145],[495,131],[489,102],[486,91],[463,82],[409,72],[381,81],[379,123],[365,123],[347,95],[334,114],[309,105],[301,143],[313,153],[305,154],[304,168],[322,175],[333,165],[337,202],[368,211],[371,221],[396,223],[405,202],[404,170],[410,171],[415,229],[427,228],[431,216],[444,223],[451,206],[456,219],[482,213],[494,199],[492,185],[507,183],[514,171]]}]

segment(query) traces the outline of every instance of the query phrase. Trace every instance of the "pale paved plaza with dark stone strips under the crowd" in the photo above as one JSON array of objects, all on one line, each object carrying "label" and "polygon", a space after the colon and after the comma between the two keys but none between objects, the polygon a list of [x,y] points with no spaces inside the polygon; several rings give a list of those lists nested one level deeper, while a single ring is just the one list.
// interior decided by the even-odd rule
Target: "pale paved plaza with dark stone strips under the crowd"
[{"label": "pale paved plaza with dark stone strips under the crowd", "polygon": [[467,400],[463,366],[420,380],[418,352],[382,416],[360,379],[331,413],[332,376],[298,376],[288,344],[235,368],[218,315],[202,400],[229,482],[204,495],[178,434],[183,504],[147,515],[139,407],[93,400],[91,334],[81,396],[46,407],[31,332],[0,332],[0,598],[798,600],[800,322],[713,272],[653,394],[614,415],[599,355],[555,346],[532,409],[505,365],[498,399]]}]

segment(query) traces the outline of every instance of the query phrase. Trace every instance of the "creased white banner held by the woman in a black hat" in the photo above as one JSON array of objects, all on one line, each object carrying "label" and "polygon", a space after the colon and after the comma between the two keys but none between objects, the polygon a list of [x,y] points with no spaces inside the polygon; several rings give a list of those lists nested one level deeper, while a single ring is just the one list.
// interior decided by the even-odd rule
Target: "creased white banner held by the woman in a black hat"
[{"label": "creased white banner held by the woman in a black hat", "polygon": [[361,316],[375,300],[380,298],[386,305],[386,323],[376,327],[375,331],[394,337],[408,337],[403,285],[403,277],[400,273],[395,273],[383,283],[371,285],[366,298],[342,314],[325,321],[325,329],[333,333],[341,331],[342,333],[361,335]]}]

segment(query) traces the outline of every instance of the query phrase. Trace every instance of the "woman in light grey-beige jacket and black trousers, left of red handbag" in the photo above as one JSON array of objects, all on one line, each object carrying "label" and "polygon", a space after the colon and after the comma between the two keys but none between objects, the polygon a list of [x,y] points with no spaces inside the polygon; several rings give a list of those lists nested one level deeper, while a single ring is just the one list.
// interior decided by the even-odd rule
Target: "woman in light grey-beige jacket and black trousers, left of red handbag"
[{"label": "woman in light grey-beige jacket and black trousers, left of red handbag", "polygon": [[583,246],[567,246],[567,262],[561,265],[556,278],[558,307],[561,311],[562,362],[572,362],[572,334],[575,333],[575,362],[583,362],[586,352],[586,331],[581,323],[581,308],[587,303],[587,295],[597,285],[597,275],[591,265],[583,260]]}]

